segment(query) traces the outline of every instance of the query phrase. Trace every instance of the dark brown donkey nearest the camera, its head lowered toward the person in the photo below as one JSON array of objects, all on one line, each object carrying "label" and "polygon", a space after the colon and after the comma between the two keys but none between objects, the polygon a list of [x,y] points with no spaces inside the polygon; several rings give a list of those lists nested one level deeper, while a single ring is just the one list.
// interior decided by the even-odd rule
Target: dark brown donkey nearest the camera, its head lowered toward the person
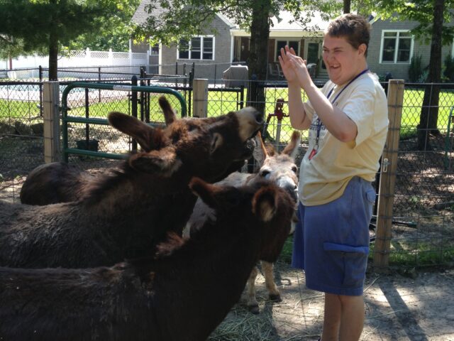
[{"label": "dark brown donkey nearest the camera, its head lowered toward the person", "polygon": [[[238,301],[256,261],[275,261],[294,201],[266,183],[192,181],[216,210],[156,259],[96,269],[0,268],[1,340],[206,340]],[[219,295],[222,292],[222,295]]]}]

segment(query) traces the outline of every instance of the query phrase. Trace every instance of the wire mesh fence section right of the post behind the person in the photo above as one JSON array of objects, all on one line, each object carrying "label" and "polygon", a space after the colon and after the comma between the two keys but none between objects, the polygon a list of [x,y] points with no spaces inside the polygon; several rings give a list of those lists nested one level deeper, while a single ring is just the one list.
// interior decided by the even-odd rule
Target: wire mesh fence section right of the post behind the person
[{"label": "wire mesh fence section right of the post behind the person", "polygon": [[[423,103],[425,90],[433,94],[432,85],[407,84],[404,92],[391,266],[452,264],[454,260],[454,154],[450,144],[454,85],[443,85],[435,106]],[[421,120],[425,109],[438,115],[431,117],[436,124]]]}]

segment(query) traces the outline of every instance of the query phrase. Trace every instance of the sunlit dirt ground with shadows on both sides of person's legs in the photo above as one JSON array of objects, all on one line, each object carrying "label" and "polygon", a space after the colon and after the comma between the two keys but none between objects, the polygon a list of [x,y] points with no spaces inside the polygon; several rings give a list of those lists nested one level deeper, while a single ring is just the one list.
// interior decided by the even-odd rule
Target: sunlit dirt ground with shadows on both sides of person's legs
[{"label": "sunlit dirt ground with shadows on both sides of person's legs", "polygon": [[[304,274],[288,264],[275,269],[282,302],[267,301],[258,277],[260,313],[245,309],[242,298],[209,340],[318,340],[323,294],[305,287]],[[360,340],[453,341],[454,269],[402,274],[367,274],[365,327]]]}]

